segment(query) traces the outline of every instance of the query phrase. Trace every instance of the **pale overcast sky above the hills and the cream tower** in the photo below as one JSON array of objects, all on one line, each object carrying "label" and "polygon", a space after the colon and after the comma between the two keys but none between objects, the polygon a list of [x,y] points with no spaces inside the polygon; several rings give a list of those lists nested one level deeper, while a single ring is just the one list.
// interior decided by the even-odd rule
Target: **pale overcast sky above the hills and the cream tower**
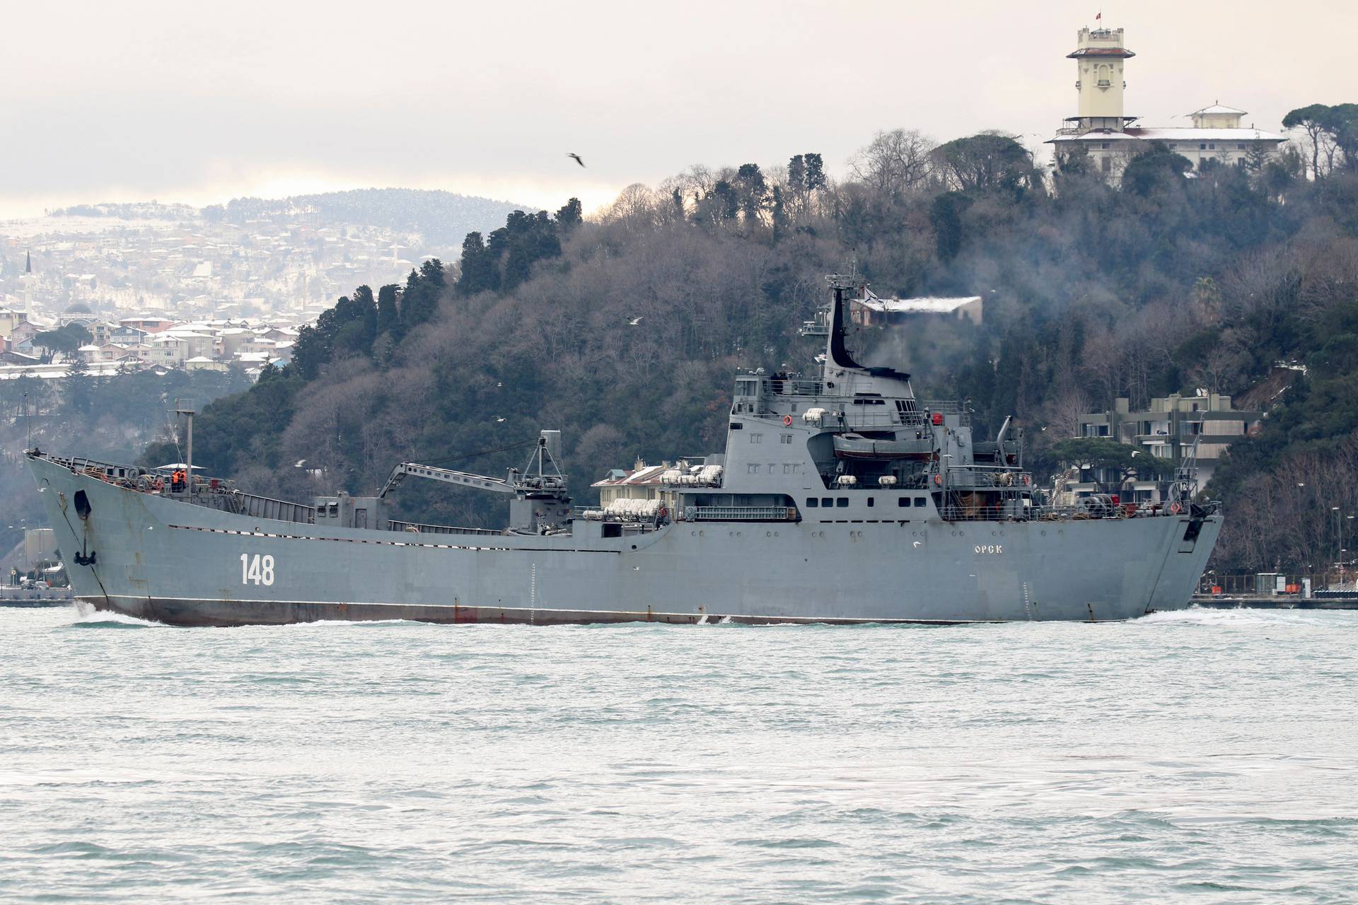
[{"label": "pale overcast sky above the hills and the cream tower", "polygon": [[[1103,4],[1127,30],[1127,113],[1215,100],[1279,129],[1358,100],[1324,34],[1358,4]],[[694,163],[842,172],[879,129],[1036,147],[1076,113],[1097,1],[8,4],[0,216],[365,186],[606,204]],[[1319,34],[1317,34],[1319,33]],[[588,168],[565,153],[579,152]]]}]

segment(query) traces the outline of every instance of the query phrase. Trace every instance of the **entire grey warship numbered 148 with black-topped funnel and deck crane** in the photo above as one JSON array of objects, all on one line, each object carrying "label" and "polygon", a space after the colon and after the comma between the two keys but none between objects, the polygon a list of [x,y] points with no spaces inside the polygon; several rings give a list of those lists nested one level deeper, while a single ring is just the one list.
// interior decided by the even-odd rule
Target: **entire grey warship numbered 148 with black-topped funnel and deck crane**
[{"label": "entire grey warship numbered 148 with black-topped funnel and deck crane", "polygon": [[[1164,505],[1050,505],[1006,419],[865,366],[830,278],[811,379],[737,374],[721,455],[669,463],[645,498],[573,505],[558,431],[504,478],[395,465],[368,497],[272,499],[193,474],[33,449],[77,600],[174,625],[971,623],[1123,620],[1188,605],[1221,531],[1181,474]],[[421,479],[508,498],[502,531],[391,517]]]}]

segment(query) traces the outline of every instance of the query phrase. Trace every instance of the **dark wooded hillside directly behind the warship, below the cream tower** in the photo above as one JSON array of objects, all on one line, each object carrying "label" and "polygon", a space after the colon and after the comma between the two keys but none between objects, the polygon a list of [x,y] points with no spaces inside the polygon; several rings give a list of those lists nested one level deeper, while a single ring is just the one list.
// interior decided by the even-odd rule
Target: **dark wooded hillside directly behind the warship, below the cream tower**
[{"label": "dark wooded hillside directly behind the warship, below the cream tower", "polygon": [[[921,396],[970,399],[982,429],[1016,412],[1039,456],[1115,396],[1240,393],[1275,361],[1306,362],[1218,471],[1219,564],[1304,562],[1308,541],[1283,532],[1358,503],[1358,160],[1313,179],[1300,155],[1251,163],[1187,178],[1156,148],[1114,190],[1078,160],[1043,174],[1004,136],[895,132],[841,183],[801,153],[631,186],[589,221],[577,202],[512,213],[449,267],[341,299],[292,366],[202,412],[196,455],[303,497],[312,469],[350,491],[402,460],[498,474],[527,455],[504,448],[559,427],[584,495],[637,456],[720,449],[733,372],[809,369],[819,349],[796,327],[824,274],[857,267],[879,294],[986,297],[982,327],[921,323],[899,357]],[[1324,499],[1264,506],[1302,460],[1329,476],[1306,482]],[[498,518],[470,493],[399,495],[411,518]]]}]

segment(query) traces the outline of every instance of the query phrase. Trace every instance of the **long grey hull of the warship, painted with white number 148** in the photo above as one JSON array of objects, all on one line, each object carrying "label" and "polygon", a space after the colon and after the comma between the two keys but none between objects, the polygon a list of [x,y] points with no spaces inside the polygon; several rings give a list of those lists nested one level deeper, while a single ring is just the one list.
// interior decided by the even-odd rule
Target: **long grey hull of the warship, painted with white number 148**
[{"label": "long grey hull of the warship, painted with white number 148", "polygon": [[598,525],[581,522],[580,535],[545,537],[409,535],[236,516],[45,459],[30,467],[75,596],[175,625],[1122,620],[1187,606],[1221,528],[1209,516],[1190,541],[1187,516],[805,514],[675,522],[608,539],[588,536]]}]

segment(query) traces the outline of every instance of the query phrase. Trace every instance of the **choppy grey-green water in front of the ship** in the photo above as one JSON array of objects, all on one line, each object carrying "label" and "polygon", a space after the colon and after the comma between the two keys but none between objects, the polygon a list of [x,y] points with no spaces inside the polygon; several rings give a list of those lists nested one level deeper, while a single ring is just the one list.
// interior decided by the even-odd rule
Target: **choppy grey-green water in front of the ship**
[{"label": "choppy grey-green water in front of the ship", "polygon": [[1355,642],[0,611],[0,898],[1353,901]]}]

